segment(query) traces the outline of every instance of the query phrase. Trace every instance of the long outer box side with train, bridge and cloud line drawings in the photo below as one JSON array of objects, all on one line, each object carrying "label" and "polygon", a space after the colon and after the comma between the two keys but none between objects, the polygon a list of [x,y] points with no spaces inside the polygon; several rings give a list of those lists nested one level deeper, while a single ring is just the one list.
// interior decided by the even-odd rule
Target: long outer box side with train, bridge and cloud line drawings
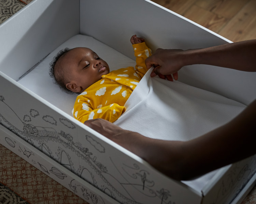
[{"label": "long outer box side with train, bridge and cloud line drawings", "polygon": [[200,203],[200,192],[157,172],[14,80],[1,77],[4,85],[0,124],[118,202],[158,203],[164,197],[177,204]]}]

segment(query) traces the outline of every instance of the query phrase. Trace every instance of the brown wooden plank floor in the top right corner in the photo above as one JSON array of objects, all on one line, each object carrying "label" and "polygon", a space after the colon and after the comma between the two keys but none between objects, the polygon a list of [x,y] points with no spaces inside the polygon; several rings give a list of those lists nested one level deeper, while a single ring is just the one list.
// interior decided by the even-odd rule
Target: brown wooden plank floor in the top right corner
[{"label": "brown wooden plank floor in the top right corner", "polygon": [[256,39],[256,0],[152,0],[233,41]]}]

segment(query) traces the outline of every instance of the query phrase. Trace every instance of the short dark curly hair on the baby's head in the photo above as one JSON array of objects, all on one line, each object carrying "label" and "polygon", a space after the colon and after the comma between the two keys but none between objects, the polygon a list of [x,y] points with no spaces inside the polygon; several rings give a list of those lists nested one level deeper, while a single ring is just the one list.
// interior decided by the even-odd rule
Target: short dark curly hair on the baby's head
[{"label": "short dark curly hair on the baby's head", "polygon": [[54,56],[52,62],[49,64],[50,65],[49,74],[50,74],[50,77],[53,78],[54,83],[59,85],[61,90],[65,91],[68,94],[73,94],[73,92],[71,90],[67,89],[67,87],[66,87],[65,82],[67,81],[66,80],[67,73],[61,67],[59,67],[60,65],[58,65],[58,64],[57,64],[58,72],[55,72],[55,68],[56,68],[55,65],[56,65],[57,61],[59,60],[59,58],[61,56],[65,55],[70,50],[71,50],[70,48],[62,49]]}]

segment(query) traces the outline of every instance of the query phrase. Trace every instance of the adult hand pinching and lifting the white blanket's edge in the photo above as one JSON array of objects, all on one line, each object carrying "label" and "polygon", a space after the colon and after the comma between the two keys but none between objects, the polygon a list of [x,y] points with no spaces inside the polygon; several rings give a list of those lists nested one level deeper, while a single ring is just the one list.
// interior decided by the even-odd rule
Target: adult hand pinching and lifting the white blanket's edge
[{"label": "adult hand pinching and lifting the white blanket's edge", "polygon": [[[184,66],[182,59],[183,50],[177,49],[161,49],[158,48],[156,52],[145,60],[146,67],[149,69],[152,66],[155,68],[151,72],[151,77],[158,75],[161,79],[173,81],[178,79],[178,72]],[[172,74],[172,75],[171,75]]]}]

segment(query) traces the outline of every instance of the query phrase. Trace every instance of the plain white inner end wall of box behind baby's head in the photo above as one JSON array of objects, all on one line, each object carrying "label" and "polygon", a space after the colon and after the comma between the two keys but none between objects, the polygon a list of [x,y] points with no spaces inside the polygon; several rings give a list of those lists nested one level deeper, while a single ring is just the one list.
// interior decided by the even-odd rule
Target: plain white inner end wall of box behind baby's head
[{"label": "plain white inner end wall of box behind baby's head", "polygon": [[18,80],[79,32],[79,0],[34,0],[0,26],[0,71]]}]

